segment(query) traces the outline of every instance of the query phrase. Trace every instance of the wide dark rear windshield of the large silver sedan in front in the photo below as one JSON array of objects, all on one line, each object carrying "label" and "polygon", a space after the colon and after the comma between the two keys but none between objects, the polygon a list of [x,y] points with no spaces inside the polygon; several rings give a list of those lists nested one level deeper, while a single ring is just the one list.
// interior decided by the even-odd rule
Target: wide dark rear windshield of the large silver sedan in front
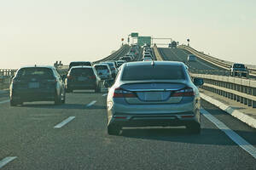
[{"label": "wide dark rear windshield of the large silver sedan in front", "polygon": [[181,65],[132,65],[124,69],[122,81],[185,79]]}]

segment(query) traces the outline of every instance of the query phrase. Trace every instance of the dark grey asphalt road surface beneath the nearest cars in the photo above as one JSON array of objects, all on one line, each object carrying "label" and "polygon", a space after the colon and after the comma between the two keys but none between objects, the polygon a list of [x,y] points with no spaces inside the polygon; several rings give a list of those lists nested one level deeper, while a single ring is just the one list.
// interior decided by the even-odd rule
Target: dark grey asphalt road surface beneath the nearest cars
[{"label": "dark grey asphalt road surface beneath the nearest cars", "polygon": [[[201,117],[200,135],[185,128],[126,128],[107,134],[106,96],[92,91],[52,102],[0,105],[0,160],[17,156],[3,169],[252,169],[256,159]],[[87,107],[91,101],[94,105]],[[256,147],[256,131],[202,102],[213,116]],[[70,116],[65,126],[55,125]],[[233,119],[230,122],[226,119]]]}]

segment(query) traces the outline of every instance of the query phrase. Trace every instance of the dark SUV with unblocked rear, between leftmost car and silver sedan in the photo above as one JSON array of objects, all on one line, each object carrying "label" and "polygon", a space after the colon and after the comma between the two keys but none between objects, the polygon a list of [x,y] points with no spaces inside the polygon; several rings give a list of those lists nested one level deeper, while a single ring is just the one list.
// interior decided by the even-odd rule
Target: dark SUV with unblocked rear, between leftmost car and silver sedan
[{"label": "dark SUV with unblocked rear, between leftmost car and silver sedan", "polygon": [[100,77],[93,66],[73,66],[67,73],[66,91],[94,89],[95,93],[101,92]]}]

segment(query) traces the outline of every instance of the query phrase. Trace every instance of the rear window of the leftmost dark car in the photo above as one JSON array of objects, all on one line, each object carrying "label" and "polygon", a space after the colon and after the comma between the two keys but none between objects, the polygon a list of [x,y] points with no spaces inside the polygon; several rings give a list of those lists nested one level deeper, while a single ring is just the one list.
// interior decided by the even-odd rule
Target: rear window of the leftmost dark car
[{"label": "rear window of the leftmost dark car", "polygon": [[21,78],[41,78],[41,79],[50,79],[53,78],[53,71],[49,68],[37,68],[37,67],[32,67],[32,68],[23,68],[20,69],[20,71],[17,72],[16,77],[18,79]]}]

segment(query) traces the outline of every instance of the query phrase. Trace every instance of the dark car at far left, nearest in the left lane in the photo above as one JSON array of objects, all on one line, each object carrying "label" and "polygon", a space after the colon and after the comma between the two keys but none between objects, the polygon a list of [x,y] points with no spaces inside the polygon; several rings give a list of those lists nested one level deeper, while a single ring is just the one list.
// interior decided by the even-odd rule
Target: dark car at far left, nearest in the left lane
[{"label": "dark car at far left, nearest in the left lane", "polygon": [[11,106],[32,101],[54,101],[60,105],[66,100],[65,84],[53,66],[21,67],[9,90]]}]

